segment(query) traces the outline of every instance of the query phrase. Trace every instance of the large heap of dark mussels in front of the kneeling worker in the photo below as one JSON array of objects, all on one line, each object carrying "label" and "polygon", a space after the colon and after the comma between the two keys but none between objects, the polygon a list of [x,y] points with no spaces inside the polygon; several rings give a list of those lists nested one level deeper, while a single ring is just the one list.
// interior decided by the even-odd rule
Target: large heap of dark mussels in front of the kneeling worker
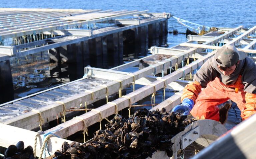
[{"label": "large heap of dark mussels in front of the kneeling worker", "polygon": [[129,119],[117,115],[105,130],[96,131],[92,140],[81,145],[64,142],[54,159],[140,159],[152,157],[156,150],[166,151],[171,157],[171,138],[194,121],[186,118],[165,108],[152,112],[139,109]]}]

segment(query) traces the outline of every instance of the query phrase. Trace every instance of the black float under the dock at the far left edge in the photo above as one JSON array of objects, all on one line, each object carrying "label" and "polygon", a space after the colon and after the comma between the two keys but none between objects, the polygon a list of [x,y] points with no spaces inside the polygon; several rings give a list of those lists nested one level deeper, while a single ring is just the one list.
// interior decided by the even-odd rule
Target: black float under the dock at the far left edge
[{"label": "black float under the dock at the far left edge", "polygon": [[12,101],[13,98],[13,83],[10,60],[0,62],[0,103]]}]

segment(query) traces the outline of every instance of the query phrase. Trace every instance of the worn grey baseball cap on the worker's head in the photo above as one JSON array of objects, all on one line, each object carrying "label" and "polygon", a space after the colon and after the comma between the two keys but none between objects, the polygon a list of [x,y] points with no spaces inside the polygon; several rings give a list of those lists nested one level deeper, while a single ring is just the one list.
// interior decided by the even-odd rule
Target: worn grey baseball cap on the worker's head
[{"label": "worn grey baseball cap on the worker's head", "polygon": [[238,62],[238,60],[245,59],[244,51],[238,51],[235,46],[223,46],[215,53],[215,60],[218,65],[222,67],[230,67]]}]

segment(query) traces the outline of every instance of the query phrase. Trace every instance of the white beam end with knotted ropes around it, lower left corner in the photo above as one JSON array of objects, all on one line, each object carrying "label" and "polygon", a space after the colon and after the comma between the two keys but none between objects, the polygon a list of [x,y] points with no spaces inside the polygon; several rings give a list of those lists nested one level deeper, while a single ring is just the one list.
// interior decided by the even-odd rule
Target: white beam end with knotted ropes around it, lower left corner
[{"label": "white beam end with knotted ropes around it, lower left corner", "polygon": [[[24,147],[32,146],[34,148],[35,136],[36,132],[25,130],[22,128],[5,125],[0,123],[0,129],[4,131],[0,131],[0,146],[8,147],[10,145],[16,145],[17,142],[23,141]],[[37,138],[37,145],[36,145],[36,156],[38,157],[40,154],[40,148],[43,143],[44,134],[39,135]],[[53,155],[56,150],[61,148],[63,142],[71,143],[70,140],[65,140],[58,137],[50,137],[48,140],[48,149],[51,155]],[[47,156],[48,153],[46,153]],[[47,157],[46,156],[46,157]]]}]

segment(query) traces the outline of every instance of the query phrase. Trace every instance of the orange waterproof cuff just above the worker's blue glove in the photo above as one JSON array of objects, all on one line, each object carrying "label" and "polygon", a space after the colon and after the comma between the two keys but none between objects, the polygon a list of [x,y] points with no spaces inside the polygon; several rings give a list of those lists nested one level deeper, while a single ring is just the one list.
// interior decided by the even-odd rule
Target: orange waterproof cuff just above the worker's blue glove
[{"label": "orange waterproof cuff just above the worker's blue glove", "polygon": [[183,89],[183,94],[181,96],[181,102],[184,98],[192,99],[194,103],[196,103],[196,99],[198,97],[198,94],[201,92],[201,85],[199,82],[194,81],[190,84],[187,84],[185,88]]}]

